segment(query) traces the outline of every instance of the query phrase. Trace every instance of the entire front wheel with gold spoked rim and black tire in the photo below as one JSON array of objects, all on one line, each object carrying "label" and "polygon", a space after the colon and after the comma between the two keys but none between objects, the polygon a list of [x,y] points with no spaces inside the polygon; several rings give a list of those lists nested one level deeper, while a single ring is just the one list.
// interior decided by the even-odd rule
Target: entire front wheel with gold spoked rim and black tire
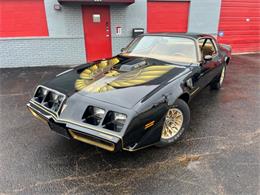
[{"label": "entire front wheel with gold spoked rim and black tire", "polygon": [[157,146],[167,146],[180,139],[183,133],[188,129],[189,123],[189,106],[185,101],[177,99],[174,105],[167,111],[161,139]]}]

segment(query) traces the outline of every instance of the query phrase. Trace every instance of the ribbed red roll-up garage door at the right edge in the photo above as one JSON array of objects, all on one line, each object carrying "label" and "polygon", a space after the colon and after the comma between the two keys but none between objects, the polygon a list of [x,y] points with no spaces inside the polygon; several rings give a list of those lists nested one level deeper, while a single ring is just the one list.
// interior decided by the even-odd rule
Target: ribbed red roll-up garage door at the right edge
[{"label": "ribbed red roll-up garage door at the right edge", "polygon": [[222,0],[219,34],[235,53],[260,51],[260,1]]}]

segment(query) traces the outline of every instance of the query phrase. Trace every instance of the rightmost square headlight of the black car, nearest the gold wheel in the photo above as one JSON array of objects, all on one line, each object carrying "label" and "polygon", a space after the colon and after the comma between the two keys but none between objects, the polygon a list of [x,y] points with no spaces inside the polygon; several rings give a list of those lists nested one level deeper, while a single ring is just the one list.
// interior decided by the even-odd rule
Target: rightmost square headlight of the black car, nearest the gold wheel
[{"label": "rightmost square headlight of the black car, nearest the gold wheel", "polygon": [[104,119],[103,127],[112,131],[120,132],[126,122],[127,116],[123,113],[109,111]]}]

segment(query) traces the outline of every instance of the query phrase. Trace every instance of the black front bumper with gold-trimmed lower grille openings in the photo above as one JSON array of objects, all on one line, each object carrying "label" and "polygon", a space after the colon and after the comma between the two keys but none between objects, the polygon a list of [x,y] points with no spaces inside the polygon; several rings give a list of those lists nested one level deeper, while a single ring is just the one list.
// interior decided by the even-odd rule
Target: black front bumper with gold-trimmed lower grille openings
[{"label": "black front bumper with gold-trimmed lower grille openings", "polygon": [[33,116],[48,124],[51,130],[67,139],[75,139],[110,152],[122,149],[122,138],[117,135],[97,131],[73,121],[59,119],[55,114],[31,101],[27,104],[27,108]]}]

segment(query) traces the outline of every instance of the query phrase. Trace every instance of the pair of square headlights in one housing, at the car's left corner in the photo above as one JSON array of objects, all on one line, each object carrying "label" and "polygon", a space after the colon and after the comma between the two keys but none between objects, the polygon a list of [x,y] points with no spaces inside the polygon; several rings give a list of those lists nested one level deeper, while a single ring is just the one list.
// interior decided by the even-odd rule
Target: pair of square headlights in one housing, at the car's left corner
[{"label": "pair of square headlights in one housing, at the car's left corner", "polygon": [[35,91],[33,100],[48,110],[58,113],[65,100],[65,95],[53,89],[39,86]]}]

